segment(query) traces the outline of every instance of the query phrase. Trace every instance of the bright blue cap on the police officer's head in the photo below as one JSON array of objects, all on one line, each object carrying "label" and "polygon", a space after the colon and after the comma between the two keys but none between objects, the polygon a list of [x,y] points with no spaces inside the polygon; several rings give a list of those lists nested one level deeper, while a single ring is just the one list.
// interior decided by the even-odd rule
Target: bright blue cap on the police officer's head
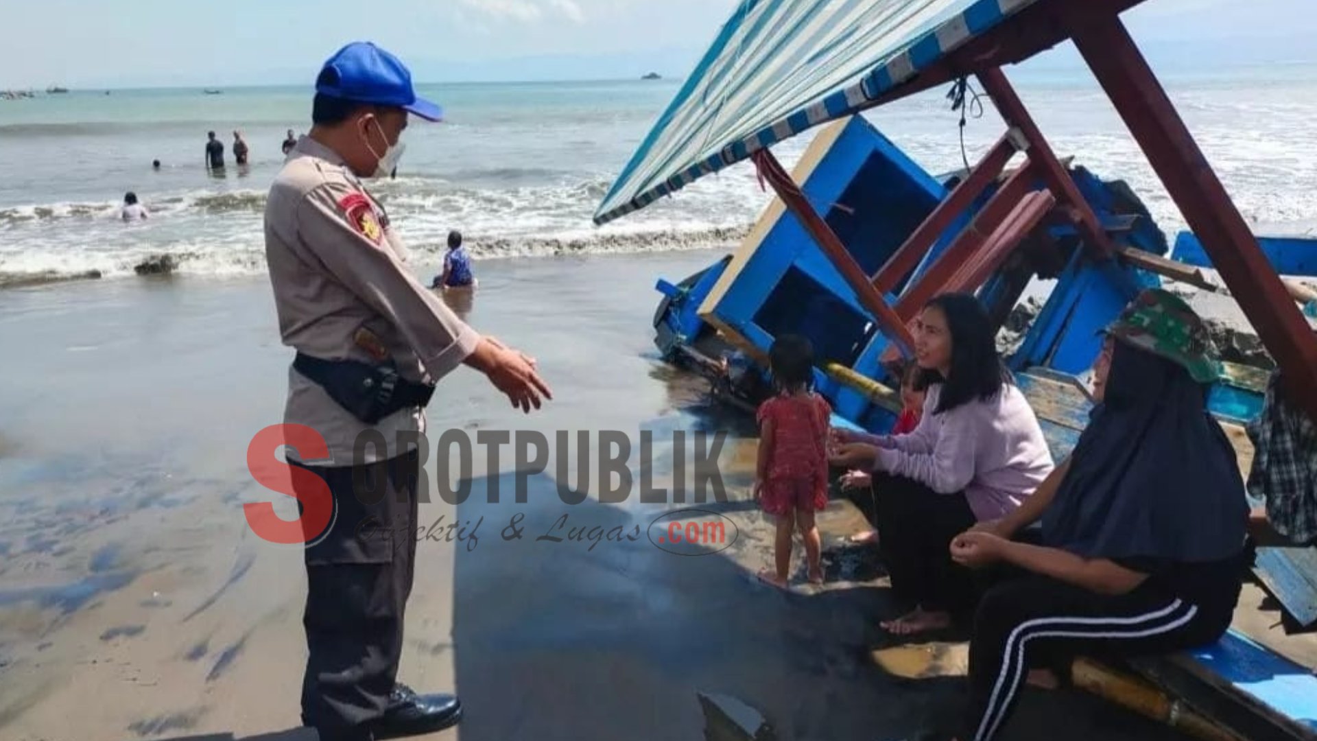
[{"label": "bright blue cap on the police officer's head", "polygon": [[[327,70],[336,74],[325,79]],[[374,44],[356,41],[344,46],[325,62],[320,76],[316,82],[319,94],[354,103],[404,108],[429,121],[444,120],[443,108],[416,98],[407,66]]]}]

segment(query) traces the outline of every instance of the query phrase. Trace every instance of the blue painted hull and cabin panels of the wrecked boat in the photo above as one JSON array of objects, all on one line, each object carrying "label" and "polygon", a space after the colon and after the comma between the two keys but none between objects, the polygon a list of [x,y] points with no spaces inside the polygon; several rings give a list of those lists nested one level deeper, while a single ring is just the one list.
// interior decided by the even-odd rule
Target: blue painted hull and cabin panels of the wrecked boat
[{"label": "blue painted hull and cabin panels of the wrecked boat", "polygon": [[[1159,256],[1169,252],[1164,233],[1125,183],[1102,181],[1083,167],[1072,169],[1071,175],[1102,223],[1126,224],[1117,235],[1121,243]],[[842,120],[820,131],[793,177],[847,251],[871,274],[892,257],[954,185],[954,178],[926,173],[863,117]],[[989,187],[939,236],[922,262],[900,281],[889,302],[894,303],[930,269],[994,189]],[[1119,261],[1092,260],[1076,248],[1079,237],[1069,225],[1046,228],[1047,237],[1067,258],[1055,274],[1042,276],[1055,278],[1056,286],[1010,364],[1018,373],[1046,368],[1080,376],[1090,368],[1101,348],[1098,330],[1139,290],[1159,286],[1160,278]],[[863,377],[889,386],[896,384],[889,369],[880,364],[889,348],[888,339],[781,202],[774,200],[768,207],[734,254],[681,282],[660,280],[656,289],[662,298],[655,315],[655,341],[668,359],[697,357],[699,368],[710,373],[719,372],[723,357],[752,367],[757,361],[757,382],[747,388],[763,392],[768,388],[763,361],[773,339],[801,334],[814,343],[820,367],[836,363]],[[988,306],[1009,309],[1019,290],[1018,276],[1002,273],[989,278],[979,295]],[[822,369],[815,380],[840,417],[877,432],[894,423],[893,410],[868,394]],[[1213,392],[1214,409],[1229,419],[1246,421],[1260,410],[1260,390],[1221,384]],[[759,401],[752,393],[744,396],[751,403]]]}]

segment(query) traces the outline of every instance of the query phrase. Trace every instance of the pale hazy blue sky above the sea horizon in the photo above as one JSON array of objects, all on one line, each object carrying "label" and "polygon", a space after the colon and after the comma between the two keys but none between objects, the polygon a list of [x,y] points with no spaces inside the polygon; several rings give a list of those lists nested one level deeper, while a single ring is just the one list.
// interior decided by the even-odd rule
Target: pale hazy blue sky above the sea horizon
[{"label": "pale hazy blue sky above the sea horizon", "polygon": [[[1081,0],[1072,0],[1081,1]],[[1317,0],[1148,0],[1154,61],[1317,58]],[[309,83],[352,40],[425,82],[682,75],[735,0],[0,0],[0,88]],[[1056,55],[1064,59],[1067,55]]]}]

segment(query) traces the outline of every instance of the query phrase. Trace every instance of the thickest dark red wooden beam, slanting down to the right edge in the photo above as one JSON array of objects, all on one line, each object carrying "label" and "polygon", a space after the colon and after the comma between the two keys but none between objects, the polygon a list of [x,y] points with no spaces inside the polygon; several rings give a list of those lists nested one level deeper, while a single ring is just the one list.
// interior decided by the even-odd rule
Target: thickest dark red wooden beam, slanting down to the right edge
[{"label": "thickest dark red wooden beam, slanting down to the right edge", "polygon": [[1085,18],[1075,26],[1075,45],[1276,359],[1293,398],[1317,419],[1317,338],[1125,25],[1114,15]]}]

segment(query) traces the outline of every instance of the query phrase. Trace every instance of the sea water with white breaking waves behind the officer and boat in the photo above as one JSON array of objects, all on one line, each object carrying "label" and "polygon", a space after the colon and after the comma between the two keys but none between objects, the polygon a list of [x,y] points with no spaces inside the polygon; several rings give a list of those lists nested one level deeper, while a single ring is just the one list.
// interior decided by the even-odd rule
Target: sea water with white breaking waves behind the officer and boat
[{"label": "sea water with white breaking waves behind the officer and boat", "polygon": [[[1317,75],[1259,67],[1168,78],[1166,87],[1243,215],[1262,232],[1312,232],[1317,214]],[[1027,70],[1025,70],[1027,73]],[[1184,227],[1121,119],[1090,76],[1015,75],[1054,149],[1102,178],[1125,179],[1159,225]],[[396,179],[371,185],[421,260],[449,229],[477,258],[731,248],[768,204],[748,163],[595,227],[594,210],[680,82],[444,84],[423,87],[448,121],[414,121]],[[960,138],[944,90],[867,113],[930,173],[973,162],[1001,134],[986,98]],[[262,273],[262,210],[287,129],[309,127],[302,87],[74,91],[0,102],[0,285],[37,273],[133,273],[153,254],[195,276]],[[208,174],[208,131],[227,146]],[[233,131],[250,162],[233,162]],[[774,148],[790,166],[807,132]],[[153,170],[151,161],[162,167]],[[126,191],[150,210],[117,219]]]}]

